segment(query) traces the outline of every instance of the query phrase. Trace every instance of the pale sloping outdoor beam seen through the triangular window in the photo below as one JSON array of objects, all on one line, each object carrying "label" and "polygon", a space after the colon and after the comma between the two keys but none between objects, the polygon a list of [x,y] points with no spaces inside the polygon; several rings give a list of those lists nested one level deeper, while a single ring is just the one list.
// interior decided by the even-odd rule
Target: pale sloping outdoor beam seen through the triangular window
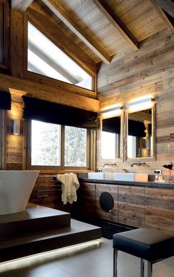
[{"label": "pale sloping outdoor beam seen through the triangular window", "polygon": [[[45,53],[41,52],[41,50],[38,49],[37,45],[33,45],[31,42],[28,42],[28,49],[31,50],[31,52],[33,52],[41,60],[46,62],[49,66],[51,66],[54,70],[56,70],[58,73],[64,76],[69,82],[71,82],[72,84],[79,83],[77,79],[73,78],[73,76],[71,76],[66,70],[64,70],[58,64],[56,64],[54,60],[48,57]],[[43,73],[39,74],[43,75]]]}]

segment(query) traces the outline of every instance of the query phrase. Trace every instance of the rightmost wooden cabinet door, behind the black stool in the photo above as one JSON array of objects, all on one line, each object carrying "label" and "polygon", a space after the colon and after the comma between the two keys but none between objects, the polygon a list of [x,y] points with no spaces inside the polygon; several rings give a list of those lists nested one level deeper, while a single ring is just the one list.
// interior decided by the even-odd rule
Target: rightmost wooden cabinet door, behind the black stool
[{"label": "rightmost wooden cabinet door, behind the black stool", "polygon": [[174,234],[174,189],[145,188],[145,228]]}]

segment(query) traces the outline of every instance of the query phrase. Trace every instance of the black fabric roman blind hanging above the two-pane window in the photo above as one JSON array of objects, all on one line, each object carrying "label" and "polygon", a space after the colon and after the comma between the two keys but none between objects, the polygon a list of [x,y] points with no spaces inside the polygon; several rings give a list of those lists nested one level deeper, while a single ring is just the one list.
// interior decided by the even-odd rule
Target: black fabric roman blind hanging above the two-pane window
[{"label": "black fabric roman blind hanging above the two-pane window", "polygon": [[23,101],[25,104],[23,118],[78,128],[97,129],[97,113],[28,96],[23,96]]}]

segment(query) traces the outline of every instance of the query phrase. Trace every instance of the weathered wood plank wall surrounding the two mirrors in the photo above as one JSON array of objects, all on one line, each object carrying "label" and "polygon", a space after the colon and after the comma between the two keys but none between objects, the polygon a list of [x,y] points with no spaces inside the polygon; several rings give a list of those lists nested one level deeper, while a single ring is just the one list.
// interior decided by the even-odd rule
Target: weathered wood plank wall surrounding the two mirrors
[{"label": "weathered wood plank wall surrounding the two mirrors", "polygon": [[[171,35],[168,29],[164,29],[143,40],[138,51],[128,48],[113,56],[110,65],[104,62],[98,64],[97,99],[100,100],[100,110],[108,109],[113,104],[124,105],[138,96],[152,95],[156,103],[156,161],[147,161],[145,166],[133,168],[130,162],[116,162],[115,167],[102,168],[99,129],[97,168],[102,168],[103,172],[121,172],[125,168],[130,173],[148,173],[153,180],[154,169],[174,163],[174,138],[169,136],[174,133],[173,49],[174,33]],[[162,169],[162,174],[167,174],[165,169]]]}]

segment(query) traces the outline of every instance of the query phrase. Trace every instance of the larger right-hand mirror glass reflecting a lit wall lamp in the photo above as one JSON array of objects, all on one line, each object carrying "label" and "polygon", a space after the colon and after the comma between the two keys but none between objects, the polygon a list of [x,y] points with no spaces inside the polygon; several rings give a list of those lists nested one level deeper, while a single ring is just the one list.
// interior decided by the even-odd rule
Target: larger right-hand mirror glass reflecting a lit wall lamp
[{"label": "larger right-hand mirror glass reflecting a lit wall lamp", "polygon": [[127,159],[154,157],[153,109],[127,113]]}]

